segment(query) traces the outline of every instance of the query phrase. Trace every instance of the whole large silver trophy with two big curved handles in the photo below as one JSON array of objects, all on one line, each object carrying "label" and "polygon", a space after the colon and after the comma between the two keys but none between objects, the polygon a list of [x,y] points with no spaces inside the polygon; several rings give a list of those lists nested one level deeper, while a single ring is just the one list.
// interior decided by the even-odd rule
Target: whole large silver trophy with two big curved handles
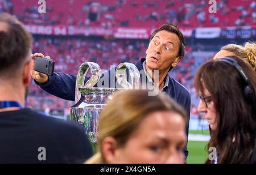
[{"label": "whole large silver trophy with two big curved handles", "polygon": [[[90,70],[90,78],[85,83],[85,77]],[[115,78],[121,88],[101,88],[95,86],[101,78],[101,69],[97,63],[82,63],[77,72],[75,105],[70,110],[70,120],[83,127],[96,152],[97,129],[100,112],[115,91],[135,89],[140,86],[140,75],[137,67],[131,63],[121,63],[115,71]],[[127,72],[129,80],[127,81]]]}]

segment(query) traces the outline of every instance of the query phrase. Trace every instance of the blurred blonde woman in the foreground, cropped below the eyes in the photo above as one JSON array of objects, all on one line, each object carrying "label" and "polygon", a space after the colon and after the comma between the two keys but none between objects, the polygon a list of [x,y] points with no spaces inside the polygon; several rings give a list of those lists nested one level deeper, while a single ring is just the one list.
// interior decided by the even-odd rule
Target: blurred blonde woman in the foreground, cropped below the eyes
[{"label": "blurred blonde woman in the foreground, cropped below the eyes", "polygon": [[162,92],[119,91],[101,112],[98,152],[86,163],[184,163],[185,118]]}]

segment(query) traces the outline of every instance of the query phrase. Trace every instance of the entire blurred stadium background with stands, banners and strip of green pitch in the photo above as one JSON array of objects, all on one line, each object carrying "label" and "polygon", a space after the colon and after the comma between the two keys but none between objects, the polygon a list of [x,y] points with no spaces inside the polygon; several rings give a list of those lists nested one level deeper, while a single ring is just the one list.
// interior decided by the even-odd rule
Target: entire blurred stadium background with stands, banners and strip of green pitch
[{"label": "entire blurred stadium background with stands, banners and strip of green pitch", "polygon": [[[210,2],[210,4],[209,4]],[[208,124],[197,112],[193,76],[221,46],[256,38],[256,2],[251,0],[0,0],[0,12],[15,15],[34,37],[33,53],[55,60],[55,72],[77,74],[83,62],[101,69],[146,56],[151,32],[163,23],[177,24],[186,37],[183,60],[170,72],[191,93],[188,163],[204,163]],[[39,13],[45,3],[45,13]],[[40,10],[39,10],[40,8]],[[211,9],[211,10],[209,10]],[[213,10],[213,11],[212,11]],[[42,12],[42,11],[41,11]],[[44,92],[31,83],[28,106],[68,119],[73,101]]]}]

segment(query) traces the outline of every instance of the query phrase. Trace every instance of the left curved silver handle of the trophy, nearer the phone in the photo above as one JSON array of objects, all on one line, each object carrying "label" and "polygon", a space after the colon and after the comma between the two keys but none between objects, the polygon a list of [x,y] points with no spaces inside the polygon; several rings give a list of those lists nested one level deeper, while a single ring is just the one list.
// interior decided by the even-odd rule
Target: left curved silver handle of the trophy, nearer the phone
[{"label": "left curved silver handle of the trophy, nearer the phone", "polygon": [[[84,84],[84,80],[85,80],[86,74],[89,69],[90,69],[90,78]],[[77,72],[76,89],[75,89],[75,103],[77,103],[81,97],[79,88],[93,87],[98,82],[98,80],[100,80],[100,77],[101,77],[100,70],[101,70],[101,68],[97,63],[94,63],[94,62],[82,63],[82,65],[79,67],[79,71]]]}]

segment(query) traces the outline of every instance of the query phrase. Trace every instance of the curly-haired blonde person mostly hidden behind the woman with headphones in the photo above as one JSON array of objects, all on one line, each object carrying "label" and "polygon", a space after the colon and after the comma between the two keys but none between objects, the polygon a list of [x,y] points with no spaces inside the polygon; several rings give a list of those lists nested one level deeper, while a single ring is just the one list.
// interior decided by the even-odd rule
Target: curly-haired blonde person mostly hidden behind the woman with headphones
[{"label": "curly-haired blonde person mostly hidden behind the woman with headphones", "polygon": [[222,46],[220,52],[216,53],[213,59],[222,57],[236,56],[249,63],[253,70],[256,71],[256,43],[246,42],[245,46],[237,44],[228,44]]}]

